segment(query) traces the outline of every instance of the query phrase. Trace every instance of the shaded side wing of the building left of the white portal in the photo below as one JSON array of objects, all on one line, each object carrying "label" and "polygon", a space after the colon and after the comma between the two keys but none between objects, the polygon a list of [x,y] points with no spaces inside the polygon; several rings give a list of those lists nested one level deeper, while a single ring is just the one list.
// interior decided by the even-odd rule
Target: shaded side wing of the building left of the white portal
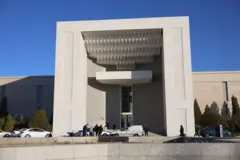
[{"label": "shaded side wing of the building left of the white portal", "polygon": [[8,111],[30,118],[37,108],[53,112],[53,76],[0,77],[0,97],[8,99]]}]

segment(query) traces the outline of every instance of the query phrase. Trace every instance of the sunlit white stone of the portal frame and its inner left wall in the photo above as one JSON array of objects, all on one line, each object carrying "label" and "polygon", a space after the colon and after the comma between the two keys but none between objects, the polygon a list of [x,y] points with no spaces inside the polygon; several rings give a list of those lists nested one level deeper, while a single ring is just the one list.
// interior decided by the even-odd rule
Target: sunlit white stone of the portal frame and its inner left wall
[{"label": "sunlit white stone of the portal frame and its inner left wall", "polygon": [[[168,136],[176,136],[179,135],[179,126],[183,125],[187,135],[194,134],[189,19],[188,17],[171,17],[57,23],[53,124],[53,132],[56,135],[78,130],[86,123],[104,124],[107,120],[107,93],[105,90],[92,87],[89,83],[91,79],[96,79],[96,72],[108,70],[87,57],[89,50],[84,42],[84,33],[146,29],[163,31],[163,49],[161,63],[159,62],[161,83],[159,85],[163,86],[164,92],[154,95],[156,99],[157,96],[163,99],[163,105],[156,106],[163,108],[163,112],[159,113],[164,120],[162,128]],[[108,86],[105,85],[105,87]],[[109,87],[112,86],[109,85]],[[134,88],[135,86],[133,94],[136,92],[137,95],[138,91]],[[134,101],[138,99],[134,98]],[[150,107],[151,102],[148,103]],[[116,106],[112,107],[117,110]],[[137,108],[137,106],[133,107]],[[110,114],[114,114],[113,112],[112,110]],[[138,113],[141,114],[140,111]],[[145,116],[151,117],[151,115]]]}]

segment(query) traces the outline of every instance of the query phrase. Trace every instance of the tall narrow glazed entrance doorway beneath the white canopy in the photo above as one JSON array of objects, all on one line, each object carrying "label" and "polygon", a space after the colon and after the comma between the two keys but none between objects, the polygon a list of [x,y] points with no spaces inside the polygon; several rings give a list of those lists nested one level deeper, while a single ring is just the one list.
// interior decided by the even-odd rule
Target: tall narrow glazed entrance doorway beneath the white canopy
[{"label": "tall narrow glazed entrance doorway beneath the white canopy", "polygon": [[132,86],[121,87],[121,128],[133,125]]}]

